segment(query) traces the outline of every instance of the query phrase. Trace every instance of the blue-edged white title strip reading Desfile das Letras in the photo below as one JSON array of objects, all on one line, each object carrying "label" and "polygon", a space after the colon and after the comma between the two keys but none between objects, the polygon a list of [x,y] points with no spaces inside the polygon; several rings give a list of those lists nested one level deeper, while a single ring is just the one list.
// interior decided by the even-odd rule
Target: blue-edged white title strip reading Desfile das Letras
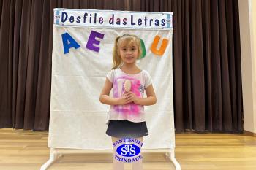
[{"label": "blue-edged white title strip reading Desfile das Letras", "polygon": [[56,26],[173,29],[172,12],[129,12],[94,9],[54,9]]}]

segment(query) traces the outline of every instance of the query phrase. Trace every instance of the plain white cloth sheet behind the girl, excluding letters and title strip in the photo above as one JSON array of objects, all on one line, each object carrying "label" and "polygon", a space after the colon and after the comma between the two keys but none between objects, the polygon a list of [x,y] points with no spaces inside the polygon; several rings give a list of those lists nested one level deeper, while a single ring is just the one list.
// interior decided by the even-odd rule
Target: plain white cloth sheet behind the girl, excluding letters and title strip
[{"label": "plain white cloth sheet behind the girl, excluding letters and title strip", "polygon": [[[100,11],[98,11],[100,12]],[[138,12],[137,12],[138,13]],[[143,12],[144,14],[145,12]],[[91,31],[104,34],[98,39],[99,52],[86,48]],[[64,54],[61,34],[68,33],[80,45]],[[52,88],[48,147],[74,149],[112,149],[105,134],[109,106],[99,102],[105,76],[112,66],[116,36],[135,34],[143,39],[146,57],[138,66],[151,74],[157,104],[145,107],[149,135],[144,149],[175,147],[173,123],[172,29],[105,28],[89,26],[53,26]],[[168,39],[164,55],[151,52],[154,37]],[[111,93],[112,94],[112,93]]]}]

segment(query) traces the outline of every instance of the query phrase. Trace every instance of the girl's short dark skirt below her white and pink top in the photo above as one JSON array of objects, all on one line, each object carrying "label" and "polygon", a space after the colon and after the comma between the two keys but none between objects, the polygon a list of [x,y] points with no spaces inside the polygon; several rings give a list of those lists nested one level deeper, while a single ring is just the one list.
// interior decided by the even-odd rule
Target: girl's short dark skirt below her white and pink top
[{"label": "girl's short dark skirt below her white and pink top", "polygon": [[148,128],[146,122],[110,120],[106,134],[116,138],[139,138],[148,135]]}]

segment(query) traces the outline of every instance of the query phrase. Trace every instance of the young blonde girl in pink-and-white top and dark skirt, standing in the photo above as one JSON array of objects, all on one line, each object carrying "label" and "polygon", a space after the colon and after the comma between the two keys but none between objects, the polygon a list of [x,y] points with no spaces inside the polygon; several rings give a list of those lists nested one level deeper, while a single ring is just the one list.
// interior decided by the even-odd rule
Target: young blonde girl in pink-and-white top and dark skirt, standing
[{"label": "young blonde girl in pink-and-white top and dark skirt, standing", "polygon": [[[140,39],[132,34],[118,36],[113,49],[113,68],[107,74],[99,97],[103,104],[110,105],[108,129],[112,142],[123,138],[138,139],[148,135],[144,105],[156,104],[157,98],[148,72],[136,66],[142,53]],[[113,97],[109,96],[113,88]],[[144,90],[146,98],[143,98]],[[113,169],[124,169],[124,163],[116,160],[114,147]],[[142,169],[142,160],[132,162],[132,170]]]}]

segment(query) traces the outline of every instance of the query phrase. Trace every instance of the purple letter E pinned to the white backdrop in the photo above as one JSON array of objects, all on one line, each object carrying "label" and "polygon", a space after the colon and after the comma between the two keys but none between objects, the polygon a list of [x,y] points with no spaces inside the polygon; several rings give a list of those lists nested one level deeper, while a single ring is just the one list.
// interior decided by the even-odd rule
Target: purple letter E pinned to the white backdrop
[{"label": "purple letter E pinned to the white backdrop", "polygon": [[99,47],[94,46],[94,44],[99,45],[100,42],[97,39],[95,39],[95,37],[98,37],[99,39],[103,39],[104,34],[101,34],[97,31],[91,31],[88,42],[86,44],[86,48],[88,48],[89,50],[99,52]]}]

